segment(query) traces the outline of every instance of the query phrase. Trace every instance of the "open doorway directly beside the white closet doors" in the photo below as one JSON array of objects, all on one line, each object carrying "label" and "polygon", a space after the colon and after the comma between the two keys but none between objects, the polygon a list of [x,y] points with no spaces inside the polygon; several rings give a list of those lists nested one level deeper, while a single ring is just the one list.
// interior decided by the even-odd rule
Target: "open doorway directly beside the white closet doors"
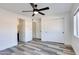
[{"label": "open doorway directly beside the white closet doors", "polygon": [[32,19],[32,39],[35,41],[41,40],[41,19]]}]

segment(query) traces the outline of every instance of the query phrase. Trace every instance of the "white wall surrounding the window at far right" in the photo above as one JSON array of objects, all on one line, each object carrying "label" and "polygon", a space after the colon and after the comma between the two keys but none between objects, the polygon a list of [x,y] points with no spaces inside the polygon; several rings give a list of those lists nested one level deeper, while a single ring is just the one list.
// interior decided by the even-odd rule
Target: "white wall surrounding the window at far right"
[{"label": "white wall surrounding the window at far right", "polygon": [[72,47],[75,50],[76,54],[79,54],[79,38],[74,36],[74,22],[73,22],[73,15],[74,15],[74,11],[77,9],[77,7],[79,7],[79,4],[74,4],[73,8],[72,8],[72,12],[71,12],[71,35],[72,35]]}]

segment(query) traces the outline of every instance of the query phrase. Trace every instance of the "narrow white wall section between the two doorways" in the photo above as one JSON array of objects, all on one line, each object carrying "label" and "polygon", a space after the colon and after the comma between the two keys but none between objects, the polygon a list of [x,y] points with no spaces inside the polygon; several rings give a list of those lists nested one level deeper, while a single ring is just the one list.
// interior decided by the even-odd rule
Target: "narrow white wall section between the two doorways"
[{"label": "narrow white wall section between the two doorways", "polygon": [[27,17],[25,22],[25,42],[32,40],[32,19]]}]

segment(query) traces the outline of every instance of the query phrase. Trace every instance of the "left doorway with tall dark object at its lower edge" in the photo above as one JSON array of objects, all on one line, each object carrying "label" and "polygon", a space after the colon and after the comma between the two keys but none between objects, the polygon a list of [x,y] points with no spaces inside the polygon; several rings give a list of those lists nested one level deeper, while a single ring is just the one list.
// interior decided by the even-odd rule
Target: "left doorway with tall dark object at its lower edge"
[{"label": "left doorway with tall dark object at its lower edge", "polygon": [[25,21],[23,19],[18,19],[17,25],[17,42],[24,42],[25,38]]}]

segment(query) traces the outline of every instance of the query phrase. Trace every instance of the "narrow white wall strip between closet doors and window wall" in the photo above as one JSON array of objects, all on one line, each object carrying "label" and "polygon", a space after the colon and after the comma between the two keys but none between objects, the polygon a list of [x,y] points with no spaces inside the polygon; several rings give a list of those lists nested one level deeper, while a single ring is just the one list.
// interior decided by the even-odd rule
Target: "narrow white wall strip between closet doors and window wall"
[{"label": "narrow white wall strip between closet doors and window wall", "polygon": [[64,37],[65,45],[71,45],[71,22],[70,22],[70,13],[65,14],[64,16]]}]

